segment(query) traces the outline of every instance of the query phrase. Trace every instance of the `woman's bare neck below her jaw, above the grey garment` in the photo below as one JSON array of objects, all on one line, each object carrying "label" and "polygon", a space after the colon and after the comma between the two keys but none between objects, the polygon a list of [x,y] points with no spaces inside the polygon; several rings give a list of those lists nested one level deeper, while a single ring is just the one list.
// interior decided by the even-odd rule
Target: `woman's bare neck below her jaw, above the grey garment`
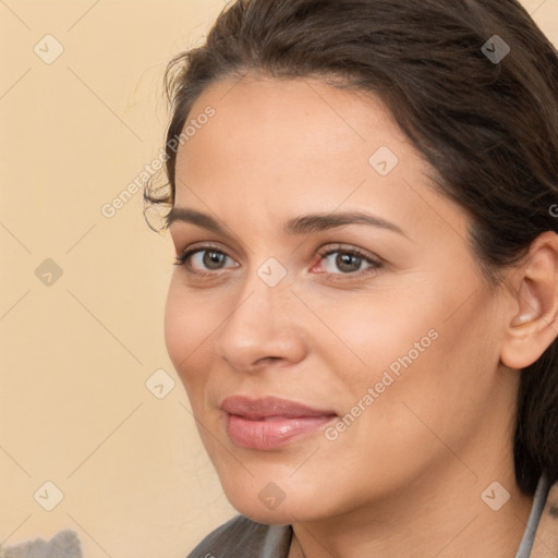
[{"label": "woman's bare neck below her jaw, above the grey garment", "polygon": [[[510,469],[478,475],[457,462],[446,475],[427,472],[366,509],[293,523],[289,558],[509,558],[533,502]],[[485,502],[497,504],[498,487],[486,492],[495,480],[511,496],[498,511]]]}]

